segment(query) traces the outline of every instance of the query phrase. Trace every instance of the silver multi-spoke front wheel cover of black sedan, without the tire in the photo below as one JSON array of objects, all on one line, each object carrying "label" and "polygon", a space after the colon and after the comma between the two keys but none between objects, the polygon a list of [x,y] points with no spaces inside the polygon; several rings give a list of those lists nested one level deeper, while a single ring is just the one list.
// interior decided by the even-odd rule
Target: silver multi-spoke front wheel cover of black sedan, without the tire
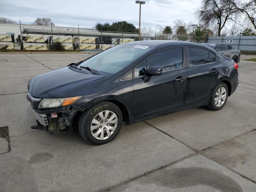
[{"label": "silver multi-spoke front wheel cover of black sedan, without the tire", "polygon": [[94,138],[105,140],[116,130],[118,118],[113,111],[104,110],[92,119],[90,130]]}]

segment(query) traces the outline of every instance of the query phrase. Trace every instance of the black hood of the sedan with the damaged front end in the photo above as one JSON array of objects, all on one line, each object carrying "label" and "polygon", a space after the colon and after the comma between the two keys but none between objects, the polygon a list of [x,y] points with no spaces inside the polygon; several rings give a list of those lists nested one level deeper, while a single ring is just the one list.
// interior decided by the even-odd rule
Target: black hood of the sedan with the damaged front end
[{"label": "black hood of the sedan with the damaged front end", "polygon": [[80,96],[83,89],[80,86],[106,77],[72,70],[69,67],[60,68],[36,76],[30,81],[28,92],[36,98],[62,98]]}]

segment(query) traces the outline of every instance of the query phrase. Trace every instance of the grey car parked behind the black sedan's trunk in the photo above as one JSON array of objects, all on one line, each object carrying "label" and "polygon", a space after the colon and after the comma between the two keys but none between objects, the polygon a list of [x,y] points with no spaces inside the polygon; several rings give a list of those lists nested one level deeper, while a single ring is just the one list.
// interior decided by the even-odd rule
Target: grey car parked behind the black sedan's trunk
[{"label": "grey car parked behind the black sedan's trunk", "polygon": [[220,52],[220,54],[224,55],[227,58],[234,60],[234,62],[240,62],[240,50],[235,49],[231,45],[223,44],[223,43],[202,43],[205,46],[213,48],[214,50]]}]

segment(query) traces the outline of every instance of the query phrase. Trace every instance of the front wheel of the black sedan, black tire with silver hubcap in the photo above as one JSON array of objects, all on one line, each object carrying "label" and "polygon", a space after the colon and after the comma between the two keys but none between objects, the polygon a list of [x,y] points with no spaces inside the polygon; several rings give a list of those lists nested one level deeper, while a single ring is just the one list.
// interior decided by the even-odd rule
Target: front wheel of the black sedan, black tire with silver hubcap
[{"label": "front wheel of the black sedan, black tire with silver hubcap", "polygon": [[[101,145],[112,141],[118,135],[122,122],[123,116],[118,106],[104,101],[95,104],[80,115],[78,130],[81,137],[89,144]],[[91,128],[94,130],[91,131]]]}]

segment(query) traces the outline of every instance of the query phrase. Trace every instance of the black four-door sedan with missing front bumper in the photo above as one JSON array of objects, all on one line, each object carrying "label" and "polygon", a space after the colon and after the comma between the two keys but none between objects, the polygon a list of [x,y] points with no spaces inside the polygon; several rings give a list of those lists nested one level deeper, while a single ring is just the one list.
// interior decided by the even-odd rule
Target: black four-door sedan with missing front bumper
[{"label": "black four-door sedan with missing front bumper", "polygon": [[132,124],[206,105],[220,110],[238,86],[238,64],[202,44],[137,41],[36,76],[28,100],[51,133],[78,128],[90,144],[113,140]]}]

